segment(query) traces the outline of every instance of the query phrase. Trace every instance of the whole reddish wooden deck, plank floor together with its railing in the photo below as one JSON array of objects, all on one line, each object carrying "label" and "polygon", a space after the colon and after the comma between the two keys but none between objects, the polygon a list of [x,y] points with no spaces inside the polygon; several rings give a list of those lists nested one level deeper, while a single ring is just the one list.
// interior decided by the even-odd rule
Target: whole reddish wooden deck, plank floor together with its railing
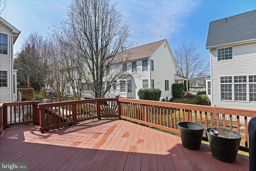
[{"label": "whole reddish wooden deck, plank floor together with its railing", "polygon": [[1,128],[36,124],[0,129],[0,161],[26,161],[29,170],[248,170],[247,156],[224,163],[209,145],[188,150],[180,137],[147,126],[179,133],[180,121],[217,124],[242,133],[240,150],[248,152],[248,120],[255,113],[124,98],[0,103]]}]

